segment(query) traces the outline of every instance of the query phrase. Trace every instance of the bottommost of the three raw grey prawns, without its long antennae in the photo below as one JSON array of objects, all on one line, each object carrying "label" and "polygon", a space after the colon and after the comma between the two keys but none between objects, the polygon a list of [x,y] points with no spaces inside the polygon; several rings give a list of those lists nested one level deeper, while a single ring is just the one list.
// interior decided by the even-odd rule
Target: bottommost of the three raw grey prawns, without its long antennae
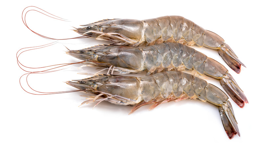
[{"label": "bottommost of the three raw grey prawns, without its long antennae", "polygon": [[[199,99],[219,108],[221,120],[229,139],[239,133],[231,103],[226,94],[205,80],[180,71],[160,72],[144,77],[97,75],[66,82],[92,94],[84,103],[108,101],[117,105],[139,107],[154,103],[150,109],[172,100]],[[97,103],[97,104],[98,104]],[[97,105],[96,104],[96,105]]]}]

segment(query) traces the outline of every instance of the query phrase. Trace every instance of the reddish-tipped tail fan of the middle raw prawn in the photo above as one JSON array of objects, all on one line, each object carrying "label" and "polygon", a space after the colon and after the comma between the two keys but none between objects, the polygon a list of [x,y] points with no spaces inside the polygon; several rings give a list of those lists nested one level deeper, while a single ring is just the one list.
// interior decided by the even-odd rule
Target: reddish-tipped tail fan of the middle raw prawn
[{"label": "reddish-tipped tail fan of the middle raw prawn", "polygon": [[227,76],[220,80],[221,86],[227,92],[227,94],[232,98],[232,100],[241,108],[248,103],[248,100],[242,91],[242,89],[237,85],[234,78],[227,73]]}]

